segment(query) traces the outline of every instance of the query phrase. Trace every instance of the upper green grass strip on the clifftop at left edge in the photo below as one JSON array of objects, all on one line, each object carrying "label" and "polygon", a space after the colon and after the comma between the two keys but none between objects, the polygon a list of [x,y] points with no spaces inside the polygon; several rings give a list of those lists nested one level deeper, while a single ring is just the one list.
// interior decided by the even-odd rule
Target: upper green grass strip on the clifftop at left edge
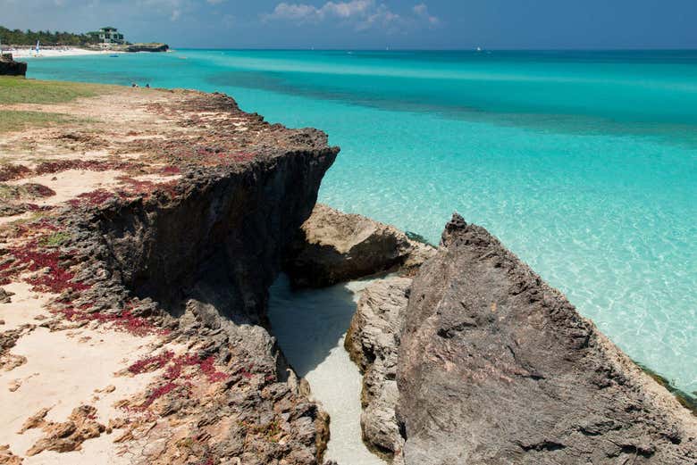
[{"label": "upper green grass strip on the clifftop at left edge", "polygon": [[78,97],[91,97],[113,86],[0,77],[0,104],[59,104]]}]

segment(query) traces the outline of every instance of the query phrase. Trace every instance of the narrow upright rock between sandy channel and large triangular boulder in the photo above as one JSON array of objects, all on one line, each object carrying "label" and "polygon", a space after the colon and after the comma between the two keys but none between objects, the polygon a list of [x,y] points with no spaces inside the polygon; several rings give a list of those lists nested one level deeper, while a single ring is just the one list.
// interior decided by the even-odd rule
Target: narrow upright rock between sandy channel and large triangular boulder
[{"label": "narrow upright rock between sandy channel and large triangular boulder", "polygon": [[404,444],[395,417],[399,397],[395,378],[409,286],[408,278],[381,279],[367,286],[345,339],[351,359],[364,372],[363,439],[375,453],[388,458]]}]

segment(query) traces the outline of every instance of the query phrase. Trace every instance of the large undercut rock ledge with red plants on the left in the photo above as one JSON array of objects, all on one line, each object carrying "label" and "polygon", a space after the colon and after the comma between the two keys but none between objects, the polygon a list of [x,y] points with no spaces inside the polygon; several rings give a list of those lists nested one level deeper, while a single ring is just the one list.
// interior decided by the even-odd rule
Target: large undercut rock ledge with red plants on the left
[{"label": "large undercut rock ledge with red plants on the left", "polygon": [[[140,137],[110,141],[107,160],[61,158],[8,178],[79,168],[119,182],[0,229],[10,244],[0,251],[0,283],[52,295],[40,323],[52,333],[89,327],[104,339],[119,332],[150,341],[119,375],[143,384],[113,404],[103,423],[120,431],[99,447],[118,447],[133,464],[321,463],[329,419],[307,382],[288,382],[265,312],[281,259],[339,149],[315,129],[241,112],[226,95],[113,92],[107,105],[138,105]],[[18,335],[4,335],[6,355]],[[30,453],[71,451],[101,432],[76,419],[46,431]]]}]

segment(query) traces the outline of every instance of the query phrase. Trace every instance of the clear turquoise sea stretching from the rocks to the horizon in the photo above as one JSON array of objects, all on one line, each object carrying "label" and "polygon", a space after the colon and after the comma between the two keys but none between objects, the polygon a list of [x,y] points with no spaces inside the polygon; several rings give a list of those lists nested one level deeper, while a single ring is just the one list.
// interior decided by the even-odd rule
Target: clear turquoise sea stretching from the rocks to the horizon
[{"label": "clear turquoise sea stretching from the rocks to the horizon", "polygon": [[322,202],[433,242],[460,212],[697,391],[697,52],[179,50],[29,76],[218,90],[323,129]]}]

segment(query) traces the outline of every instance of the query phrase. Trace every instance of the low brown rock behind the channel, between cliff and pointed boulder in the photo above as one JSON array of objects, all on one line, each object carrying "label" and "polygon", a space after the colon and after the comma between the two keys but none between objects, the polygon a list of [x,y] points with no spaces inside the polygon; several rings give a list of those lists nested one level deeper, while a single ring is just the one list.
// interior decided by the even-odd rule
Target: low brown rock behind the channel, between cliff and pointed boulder
[{"label": "low brown rock behind the channel, between cliff and pointed boulder", "polygon": [[389,225],[317,204],[290,249],[295,286],[330,286],[395,267],[414,268],[434,253]]}]

